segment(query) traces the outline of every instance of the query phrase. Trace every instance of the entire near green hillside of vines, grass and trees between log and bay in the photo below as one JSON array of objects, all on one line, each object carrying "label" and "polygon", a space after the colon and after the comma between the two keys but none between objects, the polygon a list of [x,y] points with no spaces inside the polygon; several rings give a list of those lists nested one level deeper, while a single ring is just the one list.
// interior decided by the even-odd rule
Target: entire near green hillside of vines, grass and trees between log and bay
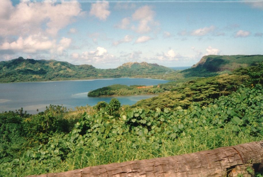
[{"label": "entire near green hillside of vines, grass and trees between log and bay", "polygon": [[77,116],[53,105],[37,115],[2,113],[0,174],[63,172],[262,140],[263,64],[178,84],[163,96],[168,100],[152,102],[178,98],[170,107],[132,109],[114,98],[78,107],[87,113]]}]

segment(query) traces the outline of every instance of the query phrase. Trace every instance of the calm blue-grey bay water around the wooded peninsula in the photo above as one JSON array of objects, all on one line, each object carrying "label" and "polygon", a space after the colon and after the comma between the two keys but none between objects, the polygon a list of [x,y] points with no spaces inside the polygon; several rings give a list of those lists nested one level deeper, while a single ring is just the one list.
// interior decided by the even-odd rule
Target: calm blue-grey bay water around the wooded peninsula
[{"label": "calm blue-grey bay water around the wooded peninsula", "polygon": [[[158,85],[168,81],[158,79],[96,79],[85,81],[23,82],[0,84],[0,112],[14,111],[23,107],[28,113],[44,111],[45,107],[63,105],[67,108],[96,105],[99,101],[109,102],[113,97],[88,97],[90,90],[113,84]],[[137,101],[154,95],[118,96],[121,104],[132,105]]]}]

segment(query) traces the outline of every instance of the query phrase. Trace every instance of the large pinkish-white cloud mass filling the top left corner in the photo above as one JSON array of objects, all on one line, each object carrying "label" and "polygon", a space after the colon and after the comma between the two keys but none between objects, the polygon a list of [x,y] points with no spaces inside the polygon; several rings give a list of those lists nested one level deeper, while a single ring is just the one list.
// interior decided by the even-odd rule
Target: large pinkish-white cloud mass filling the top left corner
[{"label": "large pinkish-white cloud mass filling the top left corner", "polygon": [[61,3],[21,1],[15,7],[10,0],[1,0],[0,36],[24,37],[39,32],[55,36],[80,14],[80,4],[75,0]]}]

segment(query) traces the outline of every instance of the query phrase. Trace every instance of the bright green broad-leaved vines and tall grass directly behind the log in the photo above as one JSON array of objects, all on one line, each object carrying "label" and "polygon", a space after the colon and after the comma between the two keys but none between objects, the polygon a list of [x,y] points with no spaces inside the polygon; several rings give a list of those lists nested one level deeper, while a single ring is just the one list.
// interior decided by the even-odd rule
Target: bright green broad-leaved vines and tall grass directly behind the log
[{"label": "bright green broad-leaved vines and tall grass directly behind the log", "polygon": [[214,149],[263,136],[263,89],[242,87],[214,103],[188,109],[100,109],[83,114],[73,130],[56,133],[47,144],[1,163],[0,174],[26,176],[67,171],[91,165],[149,159]]}]

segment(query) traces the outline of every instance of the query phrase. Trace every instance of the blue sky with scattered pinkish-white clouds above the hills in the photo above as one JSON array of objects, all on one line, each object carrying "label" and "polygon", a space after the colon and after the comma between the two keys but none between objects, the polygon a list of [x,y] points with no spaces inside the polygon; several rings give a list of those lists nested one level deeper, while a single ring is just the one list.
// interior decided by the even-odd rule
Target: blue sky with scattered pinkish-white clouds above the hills
[{"label": "blue sky with scattered pinkish-white clouds above the hills", "polygon": [[263,54],[263,0],[0,0],[0,61],[192,66]]}]

